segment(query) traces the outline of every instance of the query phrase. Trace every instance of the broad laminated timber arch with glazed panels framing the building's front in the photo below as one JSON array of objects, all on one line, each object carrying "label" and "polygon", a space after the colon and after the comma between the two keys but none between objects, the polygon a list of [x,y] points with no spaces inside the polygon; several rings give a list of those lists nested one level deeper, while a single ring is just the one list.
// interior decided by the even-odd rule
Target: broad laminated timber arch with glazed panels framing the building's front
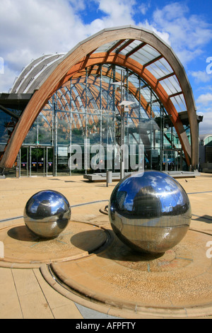
[{"label": "broad laminated timber arch with glazed panels framing the building's front", "polygon": [[[16,81],[11,92],[33,94],[33,96],[6,145],[0,167],[4,169],[13,166],[30,127],[56,91],[70,80],[78,80],[78,82],[81,80],[82,83],[83,79],[89,77],[88,72],[92,74],[96,71],[97,73],[101,69],[101,73],[107,76],[107,66],[109,65],[129,70],[140,77],[142,82],[146,82],[146,86],[151,88],[163,104],[167,114],[170,115],[187,164],[196,169],[199,158],[198,123],[192,89],[184,68],[172,49],[157,35],[143,28],[132,26],[102,30],[76,45],[66,55],[56,57],[45,71],[41,70],[42,75],[34,76],[30,80],[28,76],[23,77],[22,80],[19,78],[19,86],[18,80]],[[28,80],[28,84],[26,84],[26,80]],[[116,80],[119,81],[118,75]],[[23,85],[25,88],[21,90]],[[144,86],[145,84],[142,88]],[[105,86],[105,89],[108,89],[108,86]],[[142,89],[136,89],[131,83],[129,89],[137,99],[138,91],[142,95]],[[83,91],[79,93],[83,94]],[[95,94],[98,94],[98,91],[95,91],[95,87],[93,87],[93,96]],[[151,112],[148,110],[149,103],[145,98],[141,98],[141,95],[139,101],[142,101],[143,108],[148,114]],[[102,105],[99,107],[101,108]],[[188,113],[191,145],[179,117],[179,111]]]}]

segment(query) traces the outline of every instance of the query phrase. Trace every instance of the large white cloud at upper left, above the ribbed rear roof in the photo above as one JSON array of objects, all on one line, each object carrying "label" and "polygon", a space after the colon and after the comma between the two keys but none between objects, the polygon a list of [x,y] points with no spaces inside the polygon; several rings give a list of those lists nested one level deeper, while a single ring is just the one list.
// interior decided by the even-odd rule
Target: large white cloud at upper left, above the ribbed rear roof
[{"label": "large white cloud at upper left, above the ribbed rear roof", "polygon": [[[83,8],[81,0],[71,3]],[[84,38],[84,25],[68,0],[1,0],[0,56],[13,79],[32,59],[68,52]],[[5,79],[1,75],[0,86],[8,91]]]}]

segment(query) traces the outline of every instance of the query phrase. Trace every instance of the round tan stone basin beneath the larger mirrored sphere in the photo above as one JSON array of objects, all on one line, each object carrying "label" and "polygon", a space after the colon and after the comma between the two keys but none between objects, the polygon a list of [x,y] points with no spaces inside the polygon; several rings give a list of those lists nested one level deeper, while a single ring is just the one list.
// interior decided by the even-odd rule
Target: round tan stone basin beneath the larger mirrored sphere
[{"label": "round tan stone basin beneath the larger mirrored sphere", "polygon": [[105,251],[50,268],[56,280],[96,304],[95,310],[101,305],[115,315],[122,309],[125,318],[202,317],[212,315],[212,259],[206,256],[211,240],[212,235],[189,230],[173,249],[149,255],[114,236]]}]

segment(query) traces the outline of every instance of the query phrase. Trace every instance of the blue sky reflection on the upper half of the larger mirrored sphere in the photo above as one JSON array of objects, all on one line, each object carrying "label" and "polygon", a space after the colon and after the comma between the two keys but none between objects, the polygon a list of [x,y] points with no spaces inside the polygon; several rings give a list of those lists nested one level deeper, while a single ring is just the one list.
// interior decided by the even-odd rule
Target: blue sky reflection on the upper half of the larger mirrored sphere
[{"label": "blue sky reflection on the upper half of the larger mirrored sphere", "polygon": [[124,179],[119,185],[118,193],[126,193],[124,207],[132,211],[134,199],[139,193],[141,198],[146,197],[146,189],[148,195],[158,198],[163,213],[168,213],[177,205],[184,205],[186,194],[180,184],[167,174],[158,171],[146,171],[144,173],[136,173],[129,178]]}]

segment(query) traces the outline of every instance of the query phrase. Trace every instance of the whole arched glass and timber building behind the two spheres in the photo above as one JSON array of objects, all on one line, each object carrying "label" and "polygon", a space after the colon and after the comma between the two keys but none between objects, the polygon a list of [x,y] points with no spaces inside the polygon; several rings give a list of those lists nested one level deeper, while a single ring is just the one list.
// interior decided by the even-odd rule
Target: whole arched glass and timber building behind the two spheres
[{"label": "whole arched glass and timber building behind the two spheres", "polygon": [[[85,57],[70,64],[51,93],[47,91],[36,115],[33,112],[40,99],[35,102],[36,107],[27,111],[30,103],[33,105],[45,84],[49,89],[48,80],[75,49],[67,55],[44,55],[33,60],[20,73],[9,94],[0,94],[0,166],[5,174],[14,174],[17,168],[20,176],[89,174],[107,169],[116,172],[120,167],[117,149],[123,143],[125,171],[136,169],[129,160],[133,155],[138,165],[139,146],[143,147],[145,169],[196,169],[192,154],[199,119],[189,82],[187,96],[185,83],[174,70],[182,70],[182,65],[176,58],[177,67],[170,55],[165,57],[160,52],[163,47],[167,52],[167,45],[153,33],[136,28],[144,36],[137,40],[131,34],[135,28],[125,27],[117,32],[123,35],[124,29],[125,38],[115,35],[108,43],[94,43],[105,30],[88,38],[86,43],[95,45],[92,52],[88,47]],[[114,35],[114,30],[106,33]],[[146,38],[151,40],[150,37],[163,47],[156,49],[153,43],[147,43]],[[86,43],[76,48],[80,50]],[[172,50],[168,50],[173,57]],[[123,101],[130,105],[123,107]],[[24,117],[25,125],[21,125]],[[17,128],[21,135],[25,132],[19,147],[15,144]],[[16,147],[17,154],[13,153],[12,165],[8,167],[10,145]]]}]

